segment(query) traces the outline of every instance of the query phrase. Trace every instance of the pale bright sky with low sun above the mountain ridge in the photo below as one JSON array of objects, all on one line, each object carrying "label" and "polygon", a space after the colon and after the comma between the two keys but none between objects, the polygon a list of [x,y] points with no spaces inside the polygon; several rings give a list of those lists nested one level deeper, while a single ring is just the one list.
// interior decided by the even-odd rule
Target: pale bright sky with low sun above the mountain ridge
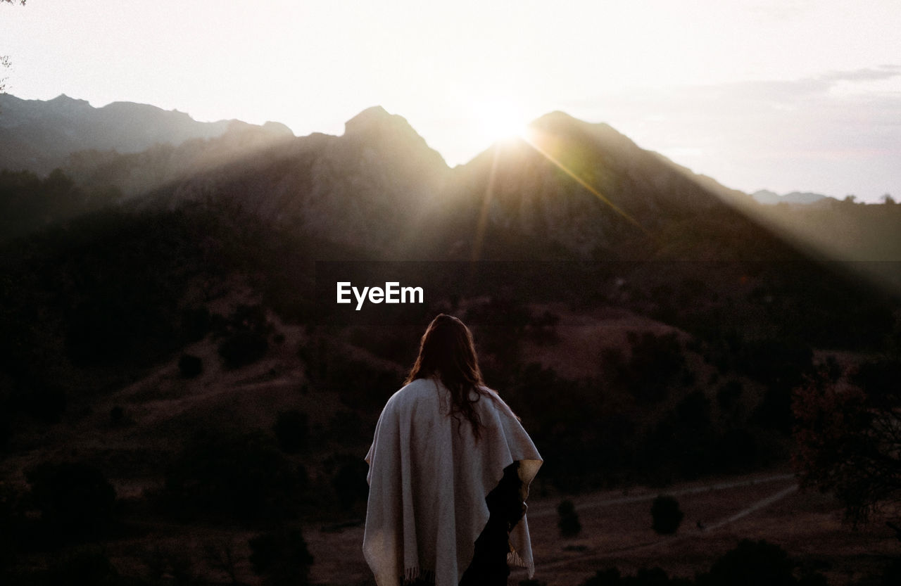
[{"label": "pale bright sky with low sun above the mountain ridge", "polygon": [[341,134],[372,105],[453,166],[544,113],[753,192],[901,199],[897,0],[28,0],[7,91]]}]

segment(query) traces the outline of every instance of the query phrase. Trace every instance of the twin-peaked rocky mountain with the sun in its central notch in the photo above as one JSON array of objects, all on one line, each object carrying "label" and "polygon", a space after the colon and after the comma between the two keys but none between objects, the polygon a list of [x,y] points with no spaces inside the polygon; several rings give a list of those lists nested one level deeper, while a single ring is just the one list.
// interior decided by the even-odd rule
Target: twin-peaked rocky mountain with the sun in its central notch
[{"label": "twin-peaked rocky mountain with the sun in its central notch", "polygon": [[733,210],[734,202],[750,202],[745,194],[640,149],[605,124],[551,113],[531,129],[531,141],[497,143],[451,169],[403,117],[377,106],[350,119],[341,136],[312,134],[245,152],[154,199],[171,207],[219,194],[265,221],[368,257],[772,252],[769,233]]}]

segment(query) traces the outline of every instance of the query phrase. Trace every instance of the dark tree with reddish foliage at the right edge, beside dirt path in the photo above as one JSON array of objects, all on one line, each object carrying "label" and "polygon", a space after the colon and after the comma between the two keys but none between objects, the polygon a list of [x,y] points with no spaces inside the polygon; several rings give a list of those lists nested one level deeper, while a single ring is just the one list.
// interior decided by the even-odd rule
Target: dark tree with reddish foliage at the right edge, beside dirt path
[{"label": "dark tree with reddish foliage at the right edge, beside dirt path", "polygon": [[794,392],[802,485],[832,491],[853,524],[901,503],[901,360],[865,363],[836,377],[825,369]]}]

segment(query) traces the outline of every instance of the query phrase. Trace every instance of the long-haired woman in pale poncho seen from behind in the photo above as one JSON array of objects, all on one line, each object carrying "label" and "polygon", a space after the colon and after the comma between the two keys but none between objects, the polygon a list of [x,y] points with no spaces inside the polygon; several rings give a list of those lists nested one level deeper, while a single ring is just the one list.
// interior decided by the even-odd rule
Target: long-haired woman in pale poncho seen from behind
[{"label": "long-haired woman in pale poncho seen from behind", "polygon": [[483,383],[462,321],[442,313],[429,324],[366,461],[363,553],[378,586],[501,585],[508,562],[532,577],[523,500],[542,458]]}]

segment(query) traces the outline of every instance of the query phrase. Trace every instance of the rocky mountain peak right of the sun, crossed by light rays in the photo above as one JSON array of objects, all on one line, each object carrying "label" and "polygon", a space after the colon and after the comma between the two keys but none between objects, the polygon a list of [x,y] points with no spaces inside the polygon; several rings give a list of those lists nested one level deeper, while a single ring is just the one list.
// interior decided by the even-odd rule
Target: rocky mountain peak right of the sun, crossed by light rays
[{"label": "rocky mountain peak right of the sun, crossed by light rays", "polygon": [[525,238],[549,257],[752,257],[771,241],[733,209],[748,203],[745,194],[639,148],[607,124],[565,113],[542,116],[528,140],[497,143],[456,171],[454,199],[489,247]]}]

